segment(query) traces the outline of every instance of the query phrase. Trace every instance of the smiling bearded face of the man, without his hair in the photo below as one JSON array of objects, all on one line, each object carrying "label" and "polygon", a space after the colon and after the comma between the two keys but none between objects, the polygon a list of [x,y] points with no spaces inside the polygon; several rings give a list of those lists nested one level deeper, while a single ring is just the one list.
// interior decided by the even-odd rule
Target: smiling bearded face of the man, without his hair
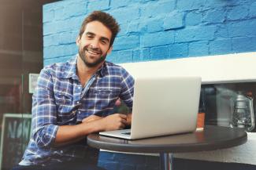
[{"label": "smiling bearded face of the man, without his hair", "polygon": [[87,67],[97,67],[111,52],[109,43],[112,33],[108,27],[99,21],[88,23],[81,37],[76,39],[79,55]]}]

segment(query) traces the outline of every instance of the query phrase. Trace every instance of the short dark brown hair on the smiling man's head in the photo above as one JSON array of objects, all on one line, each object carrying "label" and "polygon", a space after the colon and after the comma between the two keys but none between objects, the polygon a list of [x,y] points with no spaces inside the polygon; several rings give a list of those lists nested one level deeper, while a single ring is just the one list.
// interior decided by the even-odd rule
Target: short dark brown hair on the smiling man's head
[{"label": "short dark brown hair on the smiling man's head", "polygon": [[113,16],[110,16],[109,13],[104,13],[102,11],[94,11],[89,16],[87,16],[83,20],[83,24],[80,27],[80,38],[82,37],[83,31],[88,23],[91,23],[92,21],[98,20],[103,25],[109,28],[109,30],[112,32],[112,37],[109,43],[109,47],[113,45],[113,41],[117,36],[117,33],[120,31],[120,27],[117,24],[117,21],[113,18]]}]

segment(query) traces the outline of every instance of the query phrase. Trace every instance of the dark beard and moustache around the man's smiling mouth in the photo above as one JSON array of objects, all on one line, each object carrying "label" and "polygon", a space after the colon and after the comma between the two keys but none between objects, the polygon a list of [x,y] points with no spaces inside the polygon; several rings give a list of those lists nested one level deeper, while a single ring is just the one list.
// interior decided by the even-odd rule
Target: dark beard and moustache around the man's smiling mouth
[{"label": "dark beard and moustache around the man's smiling mouth", "polygon": [[[97,60],[95,60],[94,62],[89,62],[88,59],[90,56],[87,56],[86,52],[90,50],[91,52],[97,52],[99,53],[101,56],[98,57]],[[102,61],[106,60],[106,53],[105,54],[102,54],[102,50],[101,49],[98,49],[98,48],[91,48],[89,47],[88,45],[85,46],[83,49],[80,48],[79,51],[79,56],[80,56],[80,59],[83,60],[83,63],[87,66],[87,67],[97,67],[98,64],[102,63]]]}]

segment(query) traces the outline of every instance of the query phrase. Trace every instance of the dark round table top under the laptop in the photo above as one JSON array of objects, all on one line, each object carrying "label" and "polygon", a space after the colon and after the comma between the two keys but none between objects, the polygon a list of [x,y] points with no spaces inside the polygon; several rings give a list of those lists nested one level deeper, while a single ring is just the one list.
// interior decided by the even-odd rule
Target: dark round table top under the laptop
[{"label": "dark round table top under the laptop", "polygon": [[217,150],[247,142],[247,132],[241,128],[206,125],[204,130],[147,139],[118,139],[91,134],[89,146],[103,150],[133,153],[178,153]]}]

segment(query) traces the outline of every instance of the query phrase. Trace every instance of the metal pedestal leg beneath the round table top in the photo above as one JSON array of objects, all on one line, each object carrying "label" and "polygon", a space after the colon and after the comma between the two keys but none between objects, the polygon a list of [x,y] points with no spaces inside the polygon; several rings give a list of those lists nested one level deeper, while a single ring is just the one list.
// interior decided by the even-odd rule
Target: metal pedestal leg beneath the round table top
[{"label": "metal pedestal leg beneath the round table top", "polygon": [[173,170],[173,153],[160,153],[160,169]]}]

